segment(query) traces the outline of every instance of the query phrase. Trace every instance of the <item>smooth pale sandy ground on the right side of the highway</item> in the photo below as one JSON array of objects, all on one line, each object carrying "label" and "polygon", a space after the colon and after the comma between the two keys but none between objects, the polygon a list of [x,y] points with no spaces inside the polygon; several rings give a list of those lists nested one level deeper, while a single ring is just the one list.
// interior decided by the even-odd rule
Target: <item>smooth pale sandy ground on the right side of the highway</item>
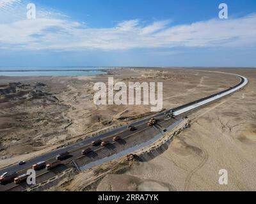
[{"label": "smooth pale sandy ground on the right side of the highway", "polygon": [[[99,191],[255,191],[256,106],[254,69],[227,69],[248,77],[241,92],[191,114],[191,128],[180,133],[161,156],[136,163],[120,175],[107,175]],[[218,182],[228,171],[228,185]]]}]

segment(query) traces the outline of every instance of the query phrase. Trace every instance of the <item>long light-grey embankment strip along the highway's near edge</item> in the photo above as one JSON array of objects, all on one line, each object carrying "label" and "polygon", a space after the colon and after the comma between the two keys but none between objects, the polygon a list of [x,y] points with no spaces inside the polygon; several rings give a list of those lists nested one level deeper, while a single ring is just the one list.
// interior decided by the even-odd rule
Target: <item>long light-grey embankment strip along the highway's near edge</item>
[{"label": "long light-grey embankment strip along the highway's near edge", "polygon": [[[173,123],[171,126],[169,126],[168,128],[166,128],[166,131],[171,131],[173,128],[175,128],[176,126],[178,126],[180,123],[182,122],[182,119],[176,121],[175,123]],[[109,157],[104,157],[103,159],[99,159],[97,161],[93,161],[92,163],[86,164],[84,166],[80,167],[81,171],[84,170],[88,170],[90,168],[93,168],[93,166],[98,166],[100,164],[104,164],[107,163],[108,161],[112,161],[114,159],[118,159],[121,157],[124,157],[127,154],[131,154],[132,152],[135,152],[136,150],[140,150],[143,147],[147,147],[149,145],[152,145],[152,143],[156,142],[157,140],[159,140],[162,137],[162,133],[157,134],[156,136],[154,136],[154,138],[152,138],[151,140],[148,140],[147,142],[141,143],[140,145],[136,145],[134,147],[130,147],[129,149],[123,150],[122,152],[119,152],[117,154],[113,154]]]}]

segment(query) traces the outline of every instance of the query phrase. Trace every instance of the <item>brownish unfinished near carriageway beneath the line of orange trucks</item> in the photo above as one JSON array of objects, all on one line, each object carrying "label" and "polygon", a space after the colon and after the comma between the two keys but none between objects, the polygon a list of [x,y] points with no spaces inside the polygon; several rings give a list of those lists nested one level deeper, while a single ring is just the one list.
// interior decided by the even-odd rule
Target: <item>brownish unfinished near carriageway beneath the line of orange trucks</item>
[{"label": "brownish unfinished near carriageway beneath the line of orange trucks", "polygon": [[[121,138],[121,140],[118,140],[118,142],[112,142],[113,136],[116,135],[107,136],[106,138],[104,138],[104,141],[106,140],[111,142],[110,145],[108,145],[107,147],[101,147],[100,145],[95,147],[92,146],[91,143],[85,146],[77,147],[76,149],[73,149],[72,152],[70,152],[70,157],[62,161],[63,165],[59,166],[58,168],[54,168],[54,170],[52,171],[47,171],[46,169],[36,171],[36,183],[38,184],[40,182],[44,182],[45,180],[51,179],[52,177],[56,176],[56,174],[61,173],[61,171],[65,171],[68,168],[71,168],[72,165],[70,165],[70,162],[73,160],[83,159],[83,164],[87,164],[93,161],[97,161],[98,159],[110,156],[112,154],[121,152],[122,150],[128,149],[129,147],[133,147],[133,145],[147,142],[157,133],[163,133],[164,129],[169,127],[170,124],[173,124],[174,122],[177,122],[177,119],[171,119],[166,116],[159,117],[159,122],[156,127],[148,127],[147,124],[141,124],[141,126],[137,126],[136,130],[134,131],[129,131],[125,128],[125,131],[116,134]],[[92,149],[92,152],[91,154],[83,156],[81,154],[81,150],[87,148]],[[50,159],[49,163],[54,160],[55,158]],[[29,168],[31,168],[31,166],[29,166]],[[26,170],[22,170],[19,172],[20,175],[24,173],[26,173]],[[1,185],[0,191],[19,191],[20,189],[24,190],[28,187],[31,186],[28,186],[26,182],[20,185],[16,185],[13,182],[10,182],[9,184]]]}]

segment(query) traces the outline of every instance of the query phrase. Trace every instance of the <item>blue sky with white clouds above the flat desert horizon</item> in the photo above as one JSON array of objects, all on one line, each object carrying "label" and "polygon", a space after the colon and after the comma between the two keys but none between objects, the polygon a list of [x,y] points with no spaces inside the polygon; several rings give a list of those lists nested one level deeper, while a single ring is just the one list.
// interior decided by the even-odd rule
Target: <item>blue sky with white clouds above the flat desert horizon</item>
[{"label": "blue sky with white clouds above the flat desert horizon", "polygon": [[0,31],[0,66],[256,66],[255,0],[0,0]]}]

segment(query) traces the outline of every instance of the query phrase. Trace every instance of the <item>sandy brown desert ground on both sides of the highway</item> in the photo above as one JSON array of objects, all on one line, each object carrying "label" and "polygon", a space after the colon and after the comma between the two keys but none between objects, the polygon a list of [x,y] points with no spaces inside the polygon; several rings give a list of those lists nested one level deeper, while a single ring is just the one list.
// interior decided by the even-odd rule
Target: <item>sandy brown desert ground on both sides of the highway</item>
[{"label": "sandy brown desert ground on both sides of the highway", "polygon": [[[191,128],[180,133],[161,156],[135,163],[120,175],[107,175],[95,190],[255,189],[256,73],[254,69],[211,71],[238,73],[248,77],[250,84],[189,115]],[[94,105],[93,84],[107,82],[108,77],[125,83],[163,82],[166,109],[239,82],[231,75],[195,69],[115,69],[97,77],[1,77],[0,166],[150,114],[150,106]],[[218,184],[218,171],[223,168],[228,170],[228,186]]]}]

